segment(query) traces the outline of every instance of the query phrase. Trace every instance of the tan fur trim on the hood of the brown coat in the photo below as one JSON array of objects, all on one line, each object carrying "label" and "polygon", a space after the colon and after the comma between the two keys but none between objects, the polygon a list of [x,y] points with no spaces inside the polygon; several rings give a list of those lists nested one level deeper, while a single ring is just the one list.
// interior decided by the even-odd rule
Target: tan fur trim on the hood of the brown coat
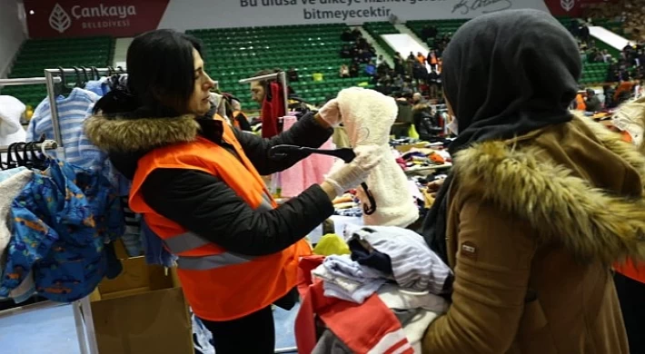
[{"label": "tan fur trim on the hood of the brown coat", "polygon": [[[645,157],[599,123],[583,119],[600,142],[640,174]],[[455,156],[458,190],[527,220],[542,243],[561,243],[580,260],[645,261],[645,200],[593,188],[555,162],[538,160],[541,148],[509,142],[478,143]]]}]

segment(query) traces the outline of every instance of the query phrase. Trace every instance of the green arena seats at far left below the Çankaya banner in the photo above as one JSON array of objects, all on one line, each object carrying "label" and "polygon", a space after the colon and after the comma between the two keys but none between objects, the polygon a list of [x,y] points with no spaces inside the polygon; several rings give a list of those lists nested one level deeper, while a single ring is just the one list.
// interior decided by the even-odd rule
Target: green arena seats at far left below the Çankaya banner
[{"label": "green arena seats at far left below the \u00c7ankaya banner", "polygon": [[[30,39],[23,44],[8,77],[42,77],[44,69],[58,66],[105,67],[113,53],[112,37]],[[7,86],[1,94],[15,96],[32,107],[47,95],[45,85]]]}]

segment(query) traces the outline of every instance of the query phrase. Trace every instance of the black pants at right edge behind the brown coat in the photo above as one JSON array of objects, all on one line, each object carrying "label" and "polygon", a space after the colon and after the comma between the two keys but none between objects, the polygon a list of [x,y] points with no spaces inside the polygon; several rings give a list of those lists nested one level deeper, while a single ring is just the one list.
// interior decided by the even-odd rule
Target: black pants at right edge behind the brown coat
[{"label": "black pants at right edge behind the brown coat", "polygon": [[627,338],[630,341],[631,354],[645,353],[645,284],[632,280],[619,272],[614,274],[616,292],[620,300],[622,318],[625,320]]}]

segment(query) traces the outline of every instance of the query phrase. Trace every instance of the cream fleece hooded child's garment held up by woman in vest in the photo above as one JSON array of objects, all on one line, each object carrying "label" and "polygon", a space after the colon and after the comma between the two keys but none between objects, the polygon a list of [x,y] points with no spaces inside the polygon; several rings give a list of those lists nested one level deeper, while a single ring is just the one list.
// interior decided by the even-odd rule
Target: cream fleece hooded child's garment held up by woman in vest
[{"label": "cream fleece hooded child's garment held up by woman in vest", "polygon": [[[363,214],[365,225],[406,227],[419,218],[408,180],[392,157],[390,130],[396,119],[397,106],[392,97],[376,91],[352,87],[342,90],[337,97],[342,124],[352,148],[377,145],[382,161],[372,170],[367,186],[376,201],[372,215]],[[368,202],[362,188],[358,188],[362,203]]]}]

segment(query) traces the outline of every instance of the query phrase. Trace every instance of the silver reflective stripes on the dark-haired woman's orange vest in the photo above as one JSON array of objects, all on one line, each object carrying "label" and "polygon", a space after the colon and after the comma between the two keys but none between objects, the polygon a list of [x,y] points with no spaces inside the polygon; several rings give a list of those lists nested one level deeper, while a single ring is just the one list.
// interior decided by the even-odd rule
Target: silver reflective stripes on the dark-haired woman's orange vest
[{"label": "silver reflective stripes on the dark-haired woman's orange vest", "polygon": [[[273,210],[269,196],[263,193],[262,202],[256,208],[256,211],[270,211]],[[210,256],[201,257],[188,257],[182,256],[181,253],[191,251],[196,248],[205,246],[210,241],[207,241],[202,236],[193,232],[184,232],[179,235],[173,236],[164,241],[165,247],[171,253],[177,255],[177,267],[184,270],[211,270],[213,268],[225,267],[228,265],[240,264],[247,261],[253,261],[255,257],[244,256],[232,252],[224,252],[220,254],[213,254]]]}]

